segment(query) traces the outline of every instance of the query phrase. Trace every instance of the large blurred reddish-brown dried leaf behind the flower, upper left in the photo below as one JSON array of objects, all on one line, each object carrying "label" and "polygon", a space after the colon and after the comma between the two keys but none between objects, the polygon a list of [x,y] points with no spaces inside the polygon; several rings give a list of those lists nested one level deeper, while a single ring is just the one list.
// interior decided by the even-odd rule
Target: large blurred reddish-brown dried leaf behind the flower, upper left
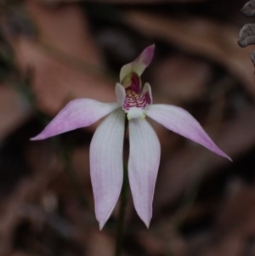
[{"label": "large blurred reddish-brown dried leaf behind the flower, upper left", "polygon": [[22,70],[34,71],[32,90],[41,110],[54,115],[69,100],[82,97],[114,101],[113,82],[80,68],[81,61],[88,67],[103,66],[82,10],[76,5],[47,9],[37,1],[26,5],[40,31],[39,41],[20,37],[14,48]]}]

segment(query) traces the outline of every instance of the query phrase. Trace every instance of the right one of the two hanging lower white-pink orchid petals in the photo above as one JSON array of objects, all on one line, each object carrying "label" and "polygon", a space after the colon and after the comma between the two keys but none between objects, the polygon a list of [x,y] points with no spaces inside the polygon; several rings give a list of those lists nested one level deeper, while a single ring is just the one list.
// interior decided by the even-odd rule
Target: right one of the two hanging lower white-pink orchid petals
[{"label": "right one of the two hanging lower white-pink orchid petals", "polygon": [[142,119],[129,121],[129,140],[128,178],[133,204],[149,227],[161,145],[149,122]]}]

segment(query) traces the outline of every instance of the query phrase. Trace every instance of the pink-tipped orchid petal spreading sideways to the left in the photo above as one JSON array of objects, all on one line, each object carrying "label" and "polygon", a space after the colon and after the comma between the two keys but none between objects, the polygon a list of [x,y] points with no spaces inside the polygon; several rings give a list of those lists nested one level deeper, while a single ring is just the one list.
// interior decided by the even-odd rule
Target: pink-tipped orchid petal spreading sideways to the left
[{"label": "pink-tipped orchid petal spreading sideways to the left", "polygon": [[102,103],[97,100],[71,100],[59,111],[59,114],[48,123],[41,134],[31,140],[47,139],[57,134],[89,126],[120,107],[119,103]]}]

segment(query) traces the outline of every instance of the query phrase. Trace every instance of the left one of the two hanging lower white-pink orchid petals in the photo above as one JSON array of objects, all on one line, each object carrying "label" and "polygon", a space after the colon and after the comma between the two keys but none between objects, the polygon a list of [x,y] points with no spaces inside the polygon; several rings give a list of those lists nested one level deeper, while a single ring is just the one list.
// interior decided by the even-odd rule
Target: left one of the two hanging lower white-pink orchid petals
[{"label": "left one of the two hanging lower white-pink orchid petals", "polygon": [[100,230],[122,190],[124,118],[122,109],[112,112],[96,129],[90,144],[90,176]]}]

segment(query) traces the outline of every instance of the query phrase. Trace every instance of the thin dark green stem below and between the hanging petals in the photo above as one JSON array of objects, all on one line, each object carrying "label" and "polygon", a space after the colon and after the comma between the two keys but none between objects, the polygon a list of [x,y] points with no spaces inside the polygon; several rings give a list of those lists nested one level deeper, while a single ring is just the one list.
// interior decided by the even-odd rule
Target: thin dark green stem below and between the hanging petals
[{"label": "thin dark green stem below and between the hanging petals", "polygon": [[117,225],[116,225],[116,251],[115,256],[120,256],[122,252],[122,242],[123,242],[123,230],[124,230],[124,220],[127,206],[127,191],[128,191],[128,178],[127,178],[127,168],[123,169],[123,185],[121,192],[121,206],[118,215]]}]

